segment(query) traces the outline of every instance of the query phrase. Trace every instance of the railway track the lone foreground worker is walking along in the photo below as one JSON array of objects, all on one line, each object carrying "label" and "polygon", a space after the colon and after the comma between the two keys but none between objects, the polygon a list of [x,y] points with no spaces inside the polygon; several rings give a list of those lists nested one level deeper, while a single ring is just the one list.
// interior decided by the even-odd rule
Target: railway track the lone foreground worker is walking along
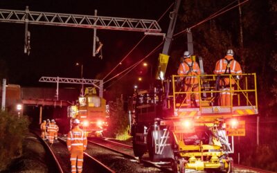
[{"label": "railway track the lone foreground worker is walking along", "polygon": [[[70,162],[70,154],[66,147],[66,140],[61,140],[59,138],[58,141],[55,141],[53,145],[48,145],[48,143],[40,138],[39,134],[33,132],[37,138],[41,141],[44,149],[46,150],[46,155],[51,156],[52,163],[51,167],[54,167],[51,172],[71,172],[71,162]],[[107,165],[98,161],[98,159],[90,156],[86,152],[84,152],[84,163],[83,163],[83,172],[107,172],[107,173],[115,173],[114,170],[111,170]]]}]

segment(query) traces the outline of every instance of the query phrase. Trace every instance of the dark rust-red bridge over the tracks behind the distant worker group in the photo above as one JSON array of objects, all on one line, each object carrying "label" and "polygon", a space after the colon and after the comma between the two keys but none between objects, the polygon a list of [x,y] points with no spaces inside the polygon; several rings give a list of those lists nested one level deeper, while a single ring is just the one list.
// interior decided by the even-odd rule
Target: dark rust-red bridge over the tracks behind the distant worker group
[{"label": "dark rust-red bridge over the tracks behind the distant worker group", "polygon": [[[44,108],[46,108],[45,110],[56,109],[53,112],[57,113],[53,114],[64,117],[67,107],[75,104],[75,100],[79,94],[80,91],[78,88],[61,88],[59,89],[59,100],[57,100],[55,88],[21,87],[18,84],[8,84],[6,85],[6,110],[18,113],[18,115],[31,114],[34,118],[39,117],[38,121],[41,123],[42,117],[46,117],[42,115]],[[17,109],[18,105],[21,105],[22,109]],[[50,117],[54,118],[54,116],[51,115]]]}]

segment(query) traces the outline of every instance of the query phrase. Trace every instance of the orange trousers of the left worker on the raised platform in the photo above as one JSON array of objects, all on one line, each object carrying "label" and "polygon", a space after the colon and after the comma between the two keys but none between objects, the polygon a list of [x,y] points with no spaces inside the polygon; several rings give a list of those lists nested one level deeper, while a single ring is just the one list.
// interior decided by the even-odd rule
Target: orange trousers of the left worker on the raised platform
[{"label": "orange trousers of the left worker on the raised platform", "polygon": [[[196,77],[187,77],[185,80],[185,92],[199,91],[198,79]],[[186,93],[186,103],[191,105],[191,95],[195,95],[196,106],[199,107],[199,93]]]}]

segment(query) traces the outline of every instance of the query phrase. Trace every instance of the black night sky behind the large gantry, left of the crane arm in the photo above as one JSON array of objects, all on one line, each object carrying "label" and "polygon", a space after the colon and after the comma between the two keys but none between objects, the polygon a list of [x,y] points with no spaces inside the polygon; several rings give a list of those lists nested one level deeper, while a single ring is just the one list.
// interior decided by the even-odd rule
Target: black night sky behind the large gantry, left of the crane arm
[{"label": "black night sky behind the large gantry, left of the crane arm", "polygon": [[[1,0],[0,8],[25,10],[25,7],[29,6],[30,11],[78,15],[93,15],[96,9],[99,16],[157,20],[172,2],[164,0]],[[160,23],[163,33],[166,33],[168,24],[167,14]],[[83,64],[84,78],[101,79],[143,37],[143,33],[138,32],[98,30],[97,35],[104,44],[103,59],[100,60],[98,57],[92,57],[92,29],[39,25],[29,25],[28,27],[31,33],[30,55],[24,54],[24,24],[0,22],[1,71],[3,77],[7,78],[8,84],[55,87],[53,84],[41,83],[38,80],[42,76],[80,78],[81,69],[80,66],[75,66],[75,62]],[[125,66],[134,64],[152,51],[161,41],[161,37],[147,37],[120,68],[125,69]],[[148,61],[157,62],[157,57],[154,59]],[[118,69],[118,71],[122,71],[122,69]],[[107,79],[113,77],[118,71],[112,73]],[[134,70],[131,73],[134,76],[139,72]]]}]

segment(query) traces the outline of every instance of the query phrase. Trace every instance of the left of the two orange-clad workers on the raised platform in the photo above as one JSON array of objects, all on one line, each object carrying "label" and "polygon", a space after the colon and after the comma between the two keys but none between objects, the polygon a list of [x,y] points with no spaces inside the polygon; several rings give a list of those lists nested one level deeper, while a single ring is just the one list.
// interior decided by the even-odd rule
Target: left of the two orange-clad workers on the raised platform
[{"label": "left of the two orange-clad workers on the raised platform", "polygon": [[[191,60],[189,51],[184,52],[183,62],[179,65],[178,75],[200,75],[199,65]],[[181,80],[184,79],[185,92],[199,91],[199,79],[197,76],[186,76],[184,78],[181,78]],[[196,107],[199,107],[199,93],[187,93],[186,104],[188,104],[188,107],[191,107],[191,95],[193,94],[195,95]]]}]

